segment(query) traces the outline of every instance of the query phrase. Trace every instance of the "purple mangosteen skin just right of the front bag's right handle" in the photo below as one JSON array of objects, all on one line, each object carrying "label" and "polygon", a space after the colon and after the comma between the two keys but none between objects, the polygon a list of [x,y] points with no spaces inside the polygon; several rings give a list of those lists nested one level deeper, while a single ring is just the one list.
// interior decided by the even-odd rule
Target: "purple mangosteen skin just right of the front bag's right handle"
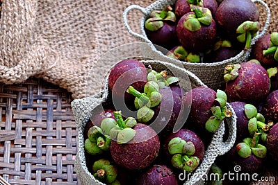
[{"label": "purple mangosteen skin just right of the front bag's right handle", "polygon": [[236,142],[240,143],[246,137],[250,136],[248,131],[248,121],[249,119],[245,116],[244,106],[246,103],[240,101],[234,101],[230,103],[231,107],[236,113]]}]

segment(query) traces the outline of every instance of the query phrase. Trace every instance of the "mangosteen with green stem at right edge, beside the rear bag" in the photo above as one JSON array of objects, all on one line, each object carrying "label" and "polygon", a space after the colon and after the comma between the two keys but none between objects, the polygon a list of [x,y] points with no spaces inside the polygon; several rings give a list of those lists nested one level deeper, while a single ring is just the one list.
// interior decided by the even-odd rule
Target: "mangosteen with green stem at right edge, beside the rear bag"
[{"label": "mangosteen with green stem at right edge, beside the rear bag", "polygon": [[[277,37],[275,33],[272,33],[272,37]],[[273,40],[274,38],[272,38]],[[271,45],[271,46],[270,46]],[[277,44],[278,45],[278,44]],[[275,60],[275,52],[277,50],[277,45],[275,48],[275,44],[270,40],[270,33],[263,35],[263,37],[259,38],[254,46],[252,47],[252,58],[261,62],[261,65],[265,68],[276,67],[278,64],[278,56],[277,60]],[[278,51],[277,51],[278,53]],[[277,54],[278,55],[278,54]]]}]

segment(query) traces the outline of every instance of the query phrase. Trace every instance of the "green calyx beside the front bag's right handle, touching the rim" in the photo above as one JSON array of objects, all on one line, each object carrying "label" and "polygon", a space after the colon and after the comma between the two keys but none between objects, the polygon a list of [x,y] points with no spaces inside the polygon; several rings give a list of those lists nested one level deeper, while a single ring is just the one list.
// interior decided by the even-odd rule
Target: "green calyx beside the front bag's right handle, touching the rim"
[{"label": "green calyx beside the front bag's right handle, touching the rim", "polygon": [[227,94],[224,91],[218,89],[216,92],[215,106],[211,107],[211,113],[213,116],[208,118],[205,123],[205,128],[208,130],[208,132],[215,132],[224,118],[229,118],[232,116],[231,110],[227,109],[226,105]]}]

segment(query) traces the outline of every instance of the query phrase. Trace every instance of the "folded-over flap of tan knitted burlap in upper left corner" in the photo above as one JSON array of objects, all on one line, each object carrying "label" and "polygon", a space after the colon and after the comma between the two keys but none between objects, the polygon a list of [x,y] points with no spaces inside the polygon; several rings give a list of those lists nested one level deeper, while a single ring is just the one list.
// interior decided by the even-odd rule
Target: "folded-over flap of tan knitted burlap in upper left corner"
[{"label": "folded-over flap of tan knitted burlap in upper left corner", "polygon": [[[3,1],[0,19],[0,82],[23,82],[53,67],[58,55],[33,34],[38,1]],[[43,30],[42,30],[43,31]]]}]

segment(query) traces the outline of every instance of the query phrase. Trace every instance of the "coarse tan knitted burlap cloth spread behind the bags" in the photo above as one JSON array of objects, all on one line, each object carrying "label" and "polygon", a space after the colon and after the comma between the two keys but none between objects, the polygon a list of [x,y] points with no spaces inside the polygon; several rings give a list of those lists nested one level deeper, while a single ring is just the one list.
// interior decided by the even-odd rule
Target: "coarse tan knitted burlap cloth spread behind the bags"
[{"label": "coarse tan knitted burlap cloth spread behind the bags", "polygon": [[[85,86],[90,69],[101,55],[116,46],[139,41],[124,27],[122,13],[133,4],[145,8],[154,2],[4,0],[0,20],[0,82],[19,83],[35,75],[72,92],[73,98],[97,93],[99,86],[87,92]],[[265,0],[265,3],[272,10],[268,31],[277,31],[278,2]],[[265,15],[262,12],[261,17]],[[141,17],[142,12],[137,10],[128,16],[129,25],[138,33]],[[100,78],[94,79],[94,83],[103,80]]]}]

